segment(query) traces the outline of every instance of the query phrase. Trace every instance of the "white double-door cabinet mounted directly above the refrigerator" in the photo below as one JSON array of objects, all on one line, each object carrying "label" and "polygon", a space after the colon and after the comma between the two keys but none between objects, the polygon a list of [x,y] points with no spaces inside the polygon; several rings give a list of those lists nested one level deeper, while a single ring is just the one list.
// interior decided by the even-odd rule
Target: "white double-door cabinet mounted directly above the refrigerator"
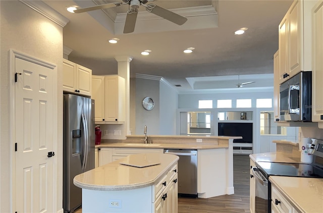
[{"label": "white double-door cabinet mounted directly above the refrigerator", "polygon": [[63,90],[91,96],[92,70],[63,59]]}]

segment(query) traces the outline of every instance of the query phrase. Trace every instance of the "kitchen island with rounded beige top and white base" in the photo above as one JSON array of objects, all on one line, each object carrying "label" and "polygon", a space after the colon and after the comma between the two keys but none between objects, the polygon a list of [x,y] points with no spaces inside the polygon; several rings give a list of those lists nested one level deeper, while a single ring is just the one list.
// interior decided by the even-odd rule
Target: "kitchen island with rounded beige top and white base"
[{"label": "kitchen island with rounded beige top and white base", "polygon": [[173,154],[133,154],[75,176],[82,212],[177,212]]}]

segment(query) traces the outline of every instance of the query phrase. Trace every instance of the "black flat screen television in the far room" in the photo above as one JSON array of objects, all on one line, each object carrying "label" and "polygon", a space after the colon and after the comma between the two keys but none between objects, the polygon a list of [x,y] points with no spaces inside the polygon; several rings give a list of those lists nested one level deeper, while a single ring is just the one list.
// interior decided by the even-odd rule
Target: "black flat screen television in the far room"
[{"label": "black flat screen television in the far room", "polygon": [[218,123],[219,136],[241,136],[234,143],[252,143],[252,123]]}]

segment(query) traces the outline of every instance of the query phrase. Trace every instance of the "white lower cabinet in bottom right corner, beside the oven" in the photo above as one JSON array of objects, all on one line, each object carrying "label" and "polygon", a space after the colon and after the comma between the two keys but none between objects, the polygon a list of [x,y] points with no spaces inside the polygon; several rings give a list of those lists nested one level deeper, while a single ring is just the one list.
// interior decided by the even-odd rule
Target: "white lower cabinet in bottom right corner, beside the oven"
[{"label": "white lower cabinet in bottom right corner, beside the oven", "polygon": [[272,185],[272,212],[296,213],[300,212]]}]

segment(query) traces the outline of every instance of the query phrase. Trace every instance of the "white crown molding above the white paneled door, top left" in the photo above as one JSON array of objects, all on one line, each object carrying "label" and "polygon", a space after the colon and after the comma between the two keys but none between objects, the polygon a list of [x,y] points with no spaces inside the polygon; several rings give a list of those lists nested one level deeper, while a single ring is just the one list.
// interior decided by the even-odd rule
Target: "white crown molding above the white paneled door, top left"
[{"label": "white crown molding above the white paneled door, top left", "polygon": [[27,5],[31,9],[37,11],[47,19],[55,22],[56,24],[60,25],[61,27],[65,27],[66,24],[70,21],[62,14],[58,13],[56,10],[52,9],[48,5],[46,5],[42,1],[23,1],[19,0],[21,3]]}]

